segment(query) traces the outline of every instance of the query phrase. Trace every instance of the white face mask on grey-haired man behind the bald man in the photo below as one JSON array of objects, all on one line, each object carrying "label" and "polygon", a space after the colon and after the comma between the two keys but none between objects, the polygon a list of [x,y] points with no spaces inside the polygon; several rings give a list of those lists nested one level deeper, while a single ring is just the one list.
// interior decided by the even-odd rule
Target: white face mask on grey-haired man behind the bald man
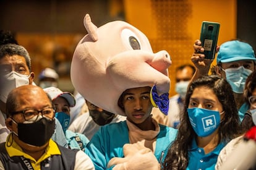
[{"label": "white face mask on grey-haired man behind the bald man", "polygon": [[15,71],[9,72],[5,75],[6,82],[4,82],[4,88],[0,94],[0,100],[6,103],[7,96],[12,89],[20,87],[22,85],[28,85],[28,78],[30,75],[19,74]]}]

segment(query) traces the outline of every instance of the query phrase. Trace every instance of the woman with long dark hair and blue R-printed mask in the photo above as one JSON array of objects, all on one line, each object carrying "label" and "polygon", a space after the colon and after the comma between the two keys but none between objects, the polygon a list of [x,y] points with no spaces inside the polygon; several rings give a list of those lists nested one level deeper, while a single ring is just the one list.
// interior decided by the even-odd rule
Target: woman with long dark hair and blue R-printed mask
[{"label": "woman with long dark hair and blue R-printed mask", "polygon": [[217,75],[192,82],[187,90],[177,138],[163,169],[214,169],[218,154],[240,134],[239,116],[229,83]]}]

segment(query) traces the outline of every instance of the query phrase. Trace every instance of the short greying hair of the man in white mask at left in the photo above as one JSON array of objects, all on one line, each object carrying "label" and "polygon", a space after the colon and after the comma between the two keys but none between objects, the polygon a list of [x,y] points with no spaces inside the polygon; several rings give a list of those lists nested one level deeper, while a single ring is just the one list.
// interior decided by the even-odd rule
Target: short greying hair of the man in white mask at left
[{"label": "short greying hair of the man in white mask at left", "polygon": [[15,44],[7,44],[7,45],[1,45],[0,46],[0,59],[2,59],[5,56],[14,56],[19,55],[25,58],[26,64],[28,66],[29,71],[31,72],[31,60],[30,56],[28,54],[27,49],[25,49],[23,46],[15,45]]}]

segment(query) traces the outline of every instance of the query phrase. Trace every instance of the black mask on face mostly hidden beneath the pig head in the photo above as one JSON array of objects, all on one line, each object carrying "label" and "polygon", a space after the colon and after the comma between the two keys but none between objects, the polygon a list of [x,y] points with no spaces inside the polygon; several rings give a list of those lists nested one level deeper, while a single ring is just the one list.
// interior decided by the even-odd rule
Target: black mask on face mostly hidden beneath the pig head
[{"label": "black mask on face mostly hidden beneath the pig head", "polygon": [[105,110],[101,112],[101,111],[97,111],[96,109],[95,110],[89,109],[89,113],[90,113],[90,116],[92,116],[93,121],[98,125],[109,124],[113,120],[114,116],[116,116],[115,114]]}]

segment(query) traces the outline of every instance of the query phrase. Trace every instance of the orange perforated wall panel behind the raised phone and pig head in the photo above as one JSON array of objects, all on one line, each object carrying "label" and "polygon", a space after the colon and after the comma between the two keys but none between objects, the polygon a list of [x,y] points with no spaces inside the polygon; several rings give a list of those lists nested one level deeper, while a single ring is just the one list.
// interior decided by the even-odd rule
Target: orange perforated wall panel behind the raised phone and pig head
[{"label": "orange perforated wall panel behind the raised phone and pig head", "polygon": [[218,45],[236,38],[235,0],[124,0],[124,11],[127,22],[147,35],[154,52],[165,49],[171,55],[170,96],[175,94],[175,69],[191,63],[203,20],[221,23]]}]

